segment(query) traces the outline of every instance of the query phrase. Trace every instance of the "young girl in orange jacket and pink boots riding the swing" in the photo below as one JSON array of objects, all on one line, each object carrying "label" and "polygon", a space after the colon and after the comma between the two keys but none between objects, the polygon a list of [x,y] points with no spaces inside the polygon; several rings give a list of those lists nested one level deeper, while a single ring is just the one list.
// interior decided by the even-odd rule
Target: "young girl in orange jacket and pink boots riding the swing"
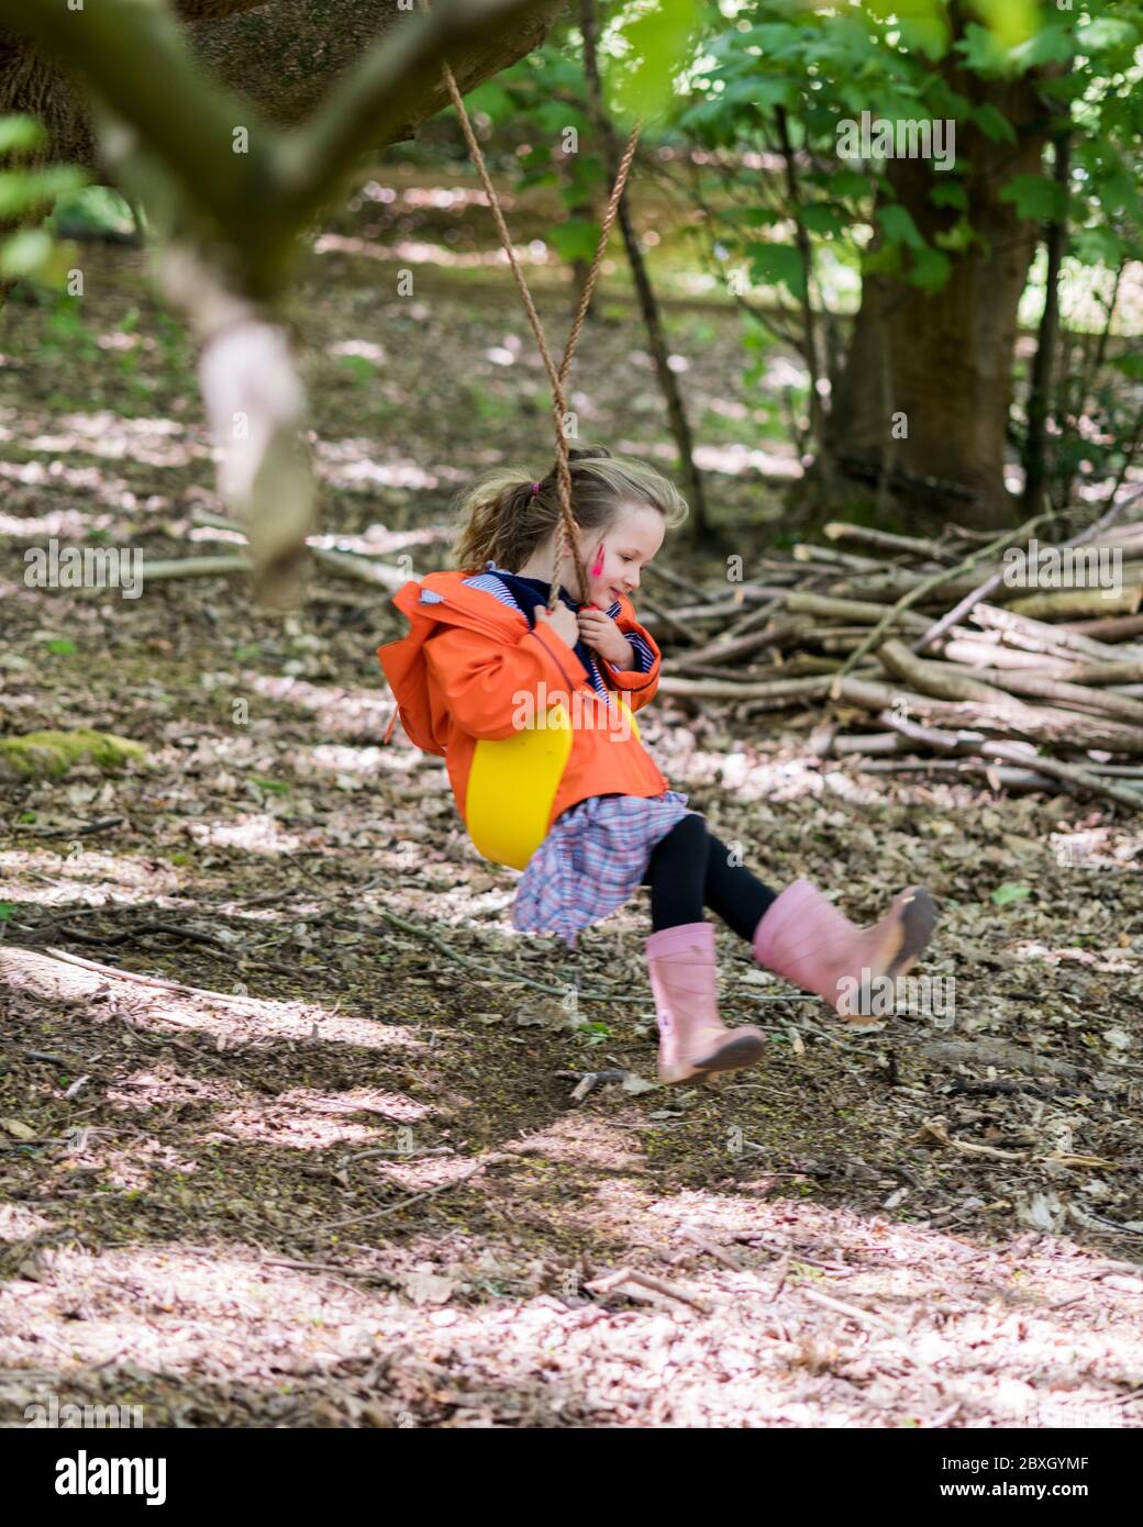
[{"label": "young girl in orange jacket and pink boots riding the swing", "polygon": [[575,944],[579,928],[649,886],[645,948],[660,1080],[749,1066],[764,1035],[729,1029],[718,1017],[715,930],[703,907],[763,965],[854,1015],[869,1012],[879,977],[903,974],[924,948],[932,902],[911,887],[862,930],[807,880],[776,895],[733,863],[686,796],[668,789],[620,724],[630,721],[620,698],[640,710],[659,686],[659,647],[630,596],[666,530],[686,516],[686,502],[652,467],[602,446],[572,447],[570,470],[588,599],[575,597],[578,573],[565,556],[559,605],[547,612],[559,533],[555,470],[539,481],[486,476],[461,495],[460,571],[431,573],[394,596],[410,632],[377,649],[397,699],[394,719],[399,713],[417,747],[445,756],[465,815],[477,742],[510,738],[527,725],[521,716],[542,712],[550,696],[573,695],[570,751],[547,835],[520,881],[513,922]]}]

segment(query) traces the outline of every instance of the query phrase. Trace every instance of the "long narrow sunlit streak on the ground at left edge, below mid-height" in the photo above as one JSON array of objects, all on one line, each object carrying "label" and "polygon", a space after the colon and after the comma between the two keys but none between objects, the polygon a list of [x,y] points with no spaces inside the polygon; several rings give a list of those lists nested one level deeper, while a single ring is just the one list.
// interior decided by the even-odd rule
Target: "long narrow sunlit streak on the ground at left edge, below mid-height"
[{"label": "long narrow sunlit streak on the ground at left edge, below mid-height", "polygon": [[[84,1020],[101,1025],[124,1015],[141,1028],[199,1029],[217,1048],[240,1049],[284,1040],[358,1044],[365,1049],[425,1049],[425,1041],[396,1023],[350,1019],[316,1003],[275,1002],[219,991],[170,991],[110,968],[87,970],[12,944],[0,945],[0,982],[12,993],[44,1002],[83,1002]],[[115,985],[116,1002],[105,997]]]}]

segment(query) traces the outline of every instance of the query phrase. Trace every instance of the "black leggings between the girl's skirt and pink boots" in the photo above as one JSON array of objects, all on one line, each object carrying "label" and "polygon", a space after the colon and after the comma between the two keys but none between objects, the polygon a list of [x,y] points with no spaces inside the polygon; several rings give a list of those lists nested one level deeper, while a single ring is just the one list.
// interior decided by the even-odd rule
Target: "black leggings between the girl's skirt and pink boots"
[{"label": "black leggings between the girl's skirt and pink boots", "polygon": [[656,933],[680,922],[701,922],[706,906],[747,941],[776,895],[749,869],[730,863],[727,846],[698,815],[683,817],[656,844],[643,884],[651,887]]}]

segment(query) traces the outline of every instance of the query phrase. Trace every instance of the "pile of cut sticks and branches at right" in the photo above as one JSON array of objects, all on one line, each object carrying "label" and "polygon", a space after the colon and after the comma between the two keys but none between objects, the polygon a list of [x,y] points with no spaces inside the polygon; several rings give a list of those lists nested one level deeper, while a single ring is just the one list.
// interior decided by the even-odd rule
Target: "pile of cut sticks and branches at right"
[{"label": "pile of cut sticks and branches at right", "polygon": [[[862,773],[984,774],[998,791],[1138,811],[1143,522],[1114,528],[1123,507],[1068,542],[1036,541],[1031,563],[1050,515],[999,538],[947,527],[931,541],[830,524],[822,544],[763,559],[755,582],[704,603],[643,591],[660,693],[735,702],[741,719],[807,710],[810,753]],[[1079,547],[1082,559],[1062,556]],[[1030,577],[1013,580],[1009,548]],[[1045,588],[1076,568],[1114,579]]]}]

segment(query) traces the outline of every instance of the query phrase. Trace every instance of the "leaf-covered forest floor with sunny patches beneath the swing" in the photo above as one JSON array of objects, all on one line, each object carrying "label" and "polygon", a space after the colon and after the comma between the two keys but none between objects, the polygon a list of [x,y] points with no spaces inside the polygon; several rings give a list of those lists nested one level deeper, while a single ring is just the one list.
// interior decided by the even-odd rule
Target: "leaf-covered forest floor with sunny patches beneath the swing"
[{"label": "leaf-covered forest floor with sunny patches beneath the swing", "polygon": [[[1143,1423],[1138,825],[657,702],[672,786],[764,880],[859,921],[924,883],[923,970],[955,980],[940,1022],[847,1029],[720,930],[767,1058],[659,1087],[645,893],[575,954],[512,931],[443,765],[379,745],[384,597],[319,577],[283,620],[222,579],[26,586],[52,536],[223,550],[189,524],[220,505],[177,327],[138,255],[84,266],[79,318],[2,331],[0,707],[148,762],[5,786],[0,1425],[50,1396],[183,1426]],[[296,293],[324,525],[426,571],[521,412],[547,469],[544,379],[507,290],[410,304],[377,269],[330,252]],[[746,389],[709,313],[671,342],[749,563],[798,472],[788,363]],[[576,392],[584,438],[663,454],[630,321],[588,328]]]}]

